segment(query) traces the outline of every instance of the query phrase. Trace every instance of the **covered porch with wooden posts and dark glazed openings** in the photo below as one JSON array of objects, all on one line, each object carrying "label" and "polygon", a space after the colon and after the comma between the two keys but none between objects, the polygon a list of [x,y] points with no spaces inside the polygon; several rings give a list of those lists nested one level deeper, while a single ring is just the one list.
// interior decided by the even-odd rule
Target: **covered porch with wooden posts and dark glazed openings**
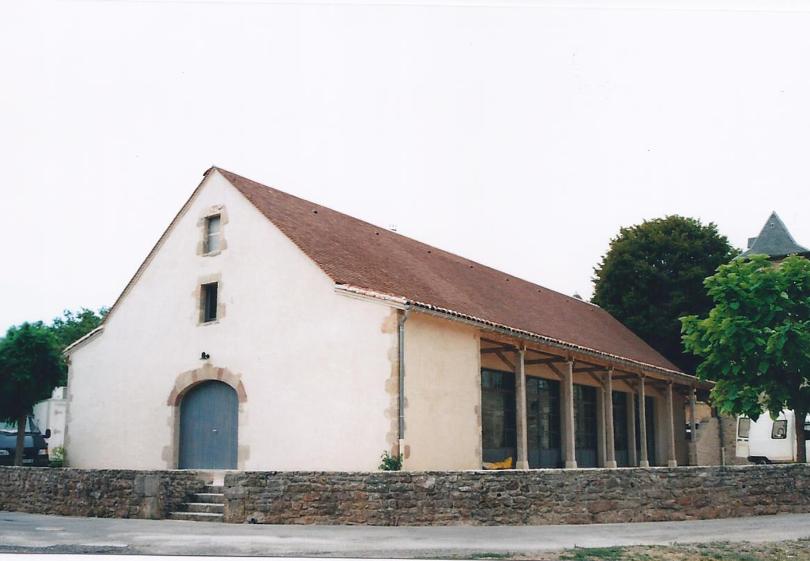
[{"label": "covered porch with wooden posts and dark glazed openings", "polygon": [[693,376],[486,332],[480,364],[485,469],[694,463]]}]

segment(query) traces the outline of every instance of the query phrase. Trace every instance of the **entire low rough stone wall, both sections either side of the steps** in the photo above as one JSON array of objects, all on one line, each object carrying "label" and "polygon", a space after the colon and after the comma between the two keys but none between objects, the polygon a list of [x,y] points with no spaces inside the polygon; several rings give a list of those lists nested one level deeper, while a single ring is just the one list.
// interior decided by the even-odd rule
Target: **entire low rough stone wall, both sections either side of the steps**
[{"label": "entire low rough stone wall, both sections either side of the steps", "polygon": [[[0,468],[0,510],[160,518],[192,471]],[[527,525],[810,512],[810,465],[455,472],[227,472],[226,522]]]}]

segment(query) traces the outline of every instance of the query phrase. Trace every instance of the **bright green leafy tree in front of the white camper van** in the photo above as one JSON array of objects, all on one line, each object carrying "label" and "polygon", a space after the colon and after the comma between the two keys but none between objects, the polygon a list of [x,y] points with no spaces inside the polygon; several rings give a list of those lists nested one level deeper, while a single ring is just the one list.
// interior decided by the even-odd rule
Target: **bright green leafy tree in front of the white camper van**
[{"label": "bright green leafy tree in front of the white camper van", "polygon": [[807,460],[804,419],[810,411],[810,260],[775,265],[764,255],[736,259],[706,279],[714,307],[684,317],[686,349],[703,360],[697,374],[715,381],[723,413],[756,420],[763,409],[796,415],[796,450]]}]

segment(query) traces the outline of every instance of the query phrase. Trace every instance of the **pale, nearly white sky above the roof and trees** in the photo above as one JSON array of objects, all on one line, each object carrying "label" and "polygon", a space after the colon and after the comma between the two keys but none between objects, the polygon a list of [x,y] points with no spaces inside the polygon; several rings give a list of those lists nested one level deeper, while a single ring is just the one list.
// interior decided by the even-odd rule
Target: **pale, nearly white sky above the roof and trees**
[{"label": "pale, nearly white sky above the roof and trees", "polygon": [[212,164],[585,297],[644,219],[810,246],[808,10],[4,0],[0,329],[112,304]]}]

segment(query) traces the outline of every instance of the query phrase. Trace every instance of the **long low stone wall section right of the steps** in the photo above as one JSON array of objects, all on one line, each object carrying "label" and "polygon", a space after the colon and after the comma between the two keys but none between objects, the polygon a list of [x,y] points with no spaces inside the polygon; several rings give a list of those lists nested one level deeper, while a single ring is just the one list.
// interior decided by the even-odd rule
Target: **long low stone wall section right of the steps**
[{"label": "long low stone wall section right of the steps", "polygon": [[587,524],[810,512],[810,466],[234,472],[227,522]]}]

